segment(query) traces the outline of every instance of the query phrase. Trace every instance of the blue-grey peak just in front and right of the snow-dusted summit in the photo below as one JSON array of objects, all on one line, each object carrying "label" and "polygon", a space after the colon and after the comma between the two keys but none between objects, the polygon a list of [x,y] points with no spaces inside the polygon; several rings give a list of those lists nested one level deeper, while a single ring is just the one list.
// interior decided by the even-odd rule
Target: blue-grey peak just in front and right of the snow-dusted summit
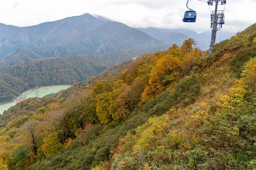
[{"label": "blue-grey peak just in front and right of the snow-dusted summit", "polygon": [[77,45],[82,45],[85,51],[79,51],[80,53],[105,54],[114,50],[147,48],[164,43],[125,24],[107,22],[93,31],[70,37],[62,45],[73,51],[78,51]]}]

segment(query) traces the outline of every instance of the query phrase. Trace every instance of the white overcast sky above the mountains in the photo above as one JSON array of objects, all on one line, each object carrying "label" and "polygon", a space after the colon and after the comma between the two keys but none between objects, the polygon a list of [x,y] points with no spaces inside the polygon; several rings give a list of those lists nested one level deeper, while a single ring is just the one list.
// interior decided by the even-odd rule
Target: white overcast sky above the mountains
[{"label": "white overcast sky above the mountains", "polygon": [[[84,13],[99,14],[128,26],[187,28],[210,31],[206,2],[189,0],[197,11],[196,23],[181,21],[186,0],[0,0],[0,23],[32,26]],[[223,31],[237,32],[256,22],[256,0],[227,0]],[[224,9],[220,6],[219,9]],[[214,6],[211,6],[214,10]],[[1,30],[0,30],[1,31]]]}]

